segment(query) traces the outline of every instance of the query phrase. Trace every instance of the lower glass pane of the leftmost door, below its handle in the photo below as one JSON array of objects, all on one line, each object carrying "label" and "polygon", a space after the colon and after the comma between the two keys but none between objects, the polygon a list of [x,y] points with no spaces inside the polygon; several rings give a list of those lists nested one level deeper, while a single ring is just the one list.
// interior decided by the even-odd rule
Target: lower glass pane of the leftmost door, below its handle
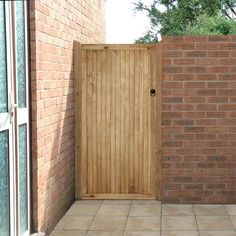
[{"label": "lower glass pane of the leftmost door, below its handle", "polygon": [[8,131],[0,132],[0,235],[10,235]]}]

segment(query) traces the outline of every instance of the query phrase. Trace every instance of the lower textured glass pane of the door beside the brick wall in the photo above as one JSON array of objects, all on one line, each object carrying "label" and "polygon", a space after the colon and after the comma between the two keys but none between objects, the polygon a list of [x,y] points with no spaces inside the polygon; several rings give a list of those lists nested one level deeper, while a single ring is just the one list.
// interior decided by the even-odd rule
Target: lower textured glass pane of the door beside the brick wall
[{"label": "lower textured glass pane of the door beside the brick wall", "polygon": [[19,126],[19,222],[20,235],[28,230],[27,127]]}]

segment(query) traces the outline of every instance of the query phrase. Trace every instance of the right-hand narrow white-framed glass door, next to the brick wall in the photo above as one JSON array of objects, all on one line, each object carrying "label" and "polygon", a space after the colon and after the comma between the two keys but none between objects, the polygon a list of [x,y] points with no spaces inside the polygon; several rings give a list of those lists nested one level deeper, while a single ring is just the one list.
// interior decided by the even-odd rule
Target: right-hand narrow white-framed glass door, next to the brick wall
[{"label": "right-hand narrow white-framed glass door, next to the brick wall", "polygon": [[29,116],[26,2],[14,2],[19,235],[29,234]]}]

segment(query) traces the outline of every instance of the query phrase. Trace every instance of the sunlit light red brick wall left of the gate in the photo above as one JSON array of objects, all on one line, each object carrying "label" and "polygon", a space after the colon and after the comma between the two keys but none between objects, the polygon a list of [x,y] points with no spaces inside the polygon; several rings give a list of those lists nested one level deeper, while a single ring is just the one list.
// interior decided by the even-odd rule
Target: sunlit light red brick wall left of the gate
[{"label": "sunlit light red brick wall left of the gate", "polygon": [[73,41],[105,41],[105,0],[31,0],[33,226],[50,231],[74,200]]}]

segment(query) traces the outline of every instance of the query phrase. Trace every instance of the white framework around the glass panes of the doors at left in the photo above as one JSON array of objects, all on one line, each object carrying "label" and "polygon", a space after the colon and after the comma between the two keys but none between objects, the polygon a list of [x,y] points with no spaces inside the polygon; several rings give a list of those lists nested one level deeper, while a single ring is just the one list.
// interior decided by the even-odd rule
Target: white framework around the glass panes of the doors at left
[{"label": "white framework around the glass panes of the doors at left", "polygon": [[[16,56],[13,52],[16,48],[13,32],[15,23],[12,22],[15,17],[12,16],[14,1],[4,1],[5,4],[5,32],[6,32],[6,64],[7,64],[7,108],[8,111],[0,113],[0,132],[8,131],[9,133],[9,189],[10,189],[10,235],[20,236],[19,209],[17,209],[19,200],[19,187],[17,182],[19,179],[19,170],[17,170],[18,150],[18,127],[26,124],[27,128],[27,204],[28,204],[28,230],[23,236],[30,234],[30,142],[29,142],[29,73],[28,73],[28,25],[27,25],[27,1],[22,1],[24,4],[24,29],[25,29],[25,77],[26,77],[26,108],[18,108],[18,91],[17,78],[14,78],[14,70],[17,70]],[[15,47],[13,47],[15,45]],[[17,76],[15,76],[17,77]],[[16,88],[14,87],[16,85]],[[14,96],[14,91],[16,97]],[[16,119],[16,120],[15,120]],[[16,122],[15,122],[16,121]],[[18,199],[17,199],[18,196]],[[17,235],[18,234],[18,235]]]}]

